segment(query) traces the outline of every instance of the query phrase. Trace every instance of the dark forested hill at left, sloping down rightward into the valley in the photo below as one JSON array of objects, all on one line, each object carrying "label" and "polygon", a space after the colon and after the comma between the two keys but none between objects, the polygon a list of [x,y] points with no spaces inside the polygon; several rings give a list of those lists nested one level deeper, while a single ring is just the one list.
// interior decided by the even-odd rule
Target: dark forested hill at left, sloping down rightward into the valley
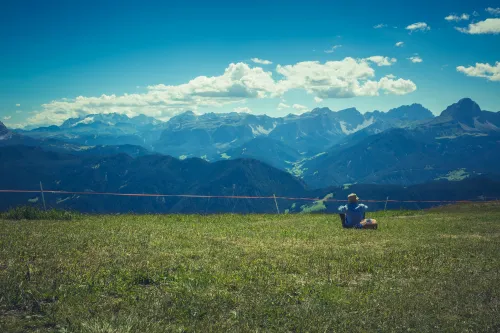
[{"label": "dark forested hill at left, sloping down rightward into the valley", "polygon": [[[202,159],[178,160],[170,156],[126,154],[81,157],[46,152],[26,146],[0,147],[2,189],[37,189],[42,181],[48,190],[150,194],[202,194],[298,196],[304,184],[290,174],[256,160],[240,159],[208,163]],[[6,209],[37,195],[3,195]],[[39,198],[41,199],[41,198]],[[39,200],[35,199],[35,200]],[[47,196],[50,206],[93,212],[232,211],[234,201],[187,198],[130,198],[85,195]],[[39,201],[38,201],[39,203]],[[248,200],[240,212],[269,211],[274,203]]]}]

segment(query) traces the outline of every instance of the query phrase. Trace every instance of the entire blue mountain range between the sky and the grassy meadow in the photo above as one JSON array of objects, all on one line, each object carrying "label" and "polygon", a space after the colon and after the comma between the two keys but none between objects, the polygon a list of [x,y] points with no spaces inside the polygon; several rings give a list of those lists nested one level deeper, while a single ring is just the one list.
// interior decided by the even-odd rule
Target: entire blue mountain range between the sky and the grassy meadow
[{"label": "entire blue mountain range between the sky and the grassy meadow", "polygon": [[[185,112],[167,122],[87,115],[32,130],[12,131],[0,122],[2,174],[8,175],[0,185],[31,188],[43,181],[51,189],[74,191],[318,198],[353,186],[378,186],[382,196],[390,186],[407,193],[438,183],[456,191],[454,184],[469,182],[463,187],[472,188],[485,175],[495,178],[499,148],[500,112],[482,111],[468,98],[436,117],[420,104],[364,114],[317,108],[280,118]],[[32,199],[22,196],[21,202]],[[222,199],[203,209],[189,198],[113,200],[58,198],[53,204],[84,211],[103,211],[104,204],[119,211],[175,212],[234,206]],[[230,211],[274,208],[246,200]]]}]

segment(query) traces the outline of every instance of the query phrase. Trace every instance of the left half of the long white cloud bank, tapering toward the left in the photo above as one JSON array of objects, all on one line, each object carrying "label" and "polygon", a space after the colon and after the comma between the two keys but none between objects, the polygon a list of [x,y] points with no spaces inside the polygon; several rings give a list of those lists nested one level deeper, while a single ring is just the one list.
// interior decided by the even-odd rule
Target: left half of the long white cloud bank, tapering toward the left
[{"label": "left half of the long white cloud bank, tapering toward the left", "polygon": [[220,107],[247,98],[265,98],[275,93],[271,72],[245,63],[230,64],[224,74],[199,76],[178,86],[148,86],[143,94],[79,96],[42,105],[42,111],[29,119],[34,124],[60,124],[70,117],[92,113],[121,113],[129,116],[146,114],[168,120],[186,110]]}]

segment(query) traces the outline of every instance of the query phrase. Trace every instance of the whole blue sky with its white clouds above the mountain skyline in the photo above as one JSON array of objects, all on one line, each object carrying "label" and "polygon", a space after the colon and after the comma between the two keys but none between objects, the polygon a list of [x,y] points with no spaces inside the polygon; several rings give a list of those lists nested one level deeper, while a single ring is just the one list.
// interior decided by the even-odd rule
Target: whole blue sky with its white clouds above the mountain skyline
[{"label": "whole blue sky with its white clouds above the mountain skyline", "polygon": [[[188,109],[282,116],[318,106],[365,112],[410,103],[438,114],[463,97],[499,111],[499,7],[7,1],[0,13],[0,121],[41,125],[100,112],[166,120]],[[456,17],[446,20],[450,15]],[[412,25],[421,28],[407,29]]]}]

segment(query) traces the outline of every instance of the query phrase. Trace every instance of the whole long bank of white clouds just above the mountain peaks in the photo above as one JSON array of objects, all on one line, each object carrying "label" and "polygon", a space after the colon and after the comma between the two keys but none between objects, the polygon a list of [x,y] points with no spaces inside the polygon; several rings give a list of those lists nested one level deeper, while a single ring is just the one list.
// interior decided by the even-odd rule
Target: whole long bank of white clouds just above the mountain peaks
[{"label": "whole long bank of white clouds just above the mountain peaks", "polygon": [[[175,86],[152,85],[144,93],[79,96],[51,101],[43,104],[41,110],[31,114],[27,121],[36,125],[61,124],[71,117],[113,112],[128,116],[145,114],[168,120],[186,110],[199,112],[200,108],[222,107],[247,99],[276,98],[292,89],[304,90],[318,99],[411,92],[411,89],[394,88],[402,84],[401,79],[394,82],[387,81],[392,80],[390,77],[380,81],[374,79],[374,68],[388,66],[395,61],[394,58],[373,56],[366,59],[347,57],[325,63],[305,61],[278,65],[276,72],[280,79],[274,79],[271,72],[261,67],[230,64],[219,76],[199,76]],[[279,108],[286,107],[289,108],[284,102],[279,105]]]}]

